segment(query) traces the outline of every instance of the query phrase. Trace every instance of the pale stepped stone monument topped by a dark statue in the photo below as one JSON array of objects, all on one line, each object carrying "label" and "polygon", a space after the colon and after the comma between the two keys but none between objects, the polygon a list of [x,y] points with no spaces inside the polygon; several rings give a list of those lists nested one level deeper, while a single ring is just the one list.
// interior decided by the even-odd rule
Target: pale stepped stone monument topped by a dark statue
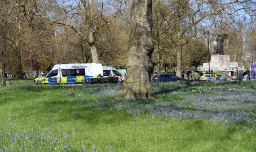
[{"label": "pale stepped stone monument topped by a dark statue", "polygon": [[[218,35],[216,38],[217,45],[214,47],[215,55],[211,56],[210,68],[213,71],[238,68],[238,62],[230,62],[230,55],[224,55],[223,43],[228,38],[228,34]],[[203,63],[203,70],[209,69],[209,63]]]}]

